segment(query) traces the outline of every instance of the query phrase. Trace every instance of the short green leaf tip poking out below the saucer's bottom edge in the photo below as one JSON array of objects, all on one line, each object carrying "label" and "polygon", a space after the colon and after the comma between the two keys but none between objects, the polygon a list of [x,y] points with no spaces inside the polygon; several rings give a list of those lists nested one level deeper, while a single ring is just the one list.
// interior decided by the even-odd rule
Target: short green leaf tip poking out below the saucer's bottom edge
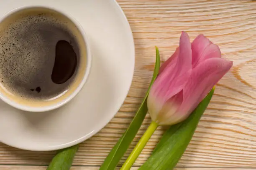
[{"label": "short green leaf tip poking out below the saucer's bottom edge", "polygon": [[77,150],[78,145],[59,150],[51,160],[47,170],[69,170]]}]

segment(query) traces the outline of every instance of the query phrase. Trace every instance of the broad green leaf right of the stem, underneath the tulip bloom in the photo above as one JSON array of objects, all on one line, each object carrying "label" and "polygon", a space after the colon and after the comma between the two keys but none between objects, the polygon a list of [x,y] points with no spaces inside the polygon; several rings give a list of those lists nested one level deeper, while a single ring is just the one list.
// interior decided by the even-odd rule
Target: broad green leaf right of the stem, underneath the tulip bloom
[{"label": "broad green leaf right of the stem, underneath the tulip bloom", "polygon": [[183,122],[166,131],[151,157],[139,170],[173,170],[189,145],[198,122],[208,106],[214,89],[205,97],[192,114]]}]

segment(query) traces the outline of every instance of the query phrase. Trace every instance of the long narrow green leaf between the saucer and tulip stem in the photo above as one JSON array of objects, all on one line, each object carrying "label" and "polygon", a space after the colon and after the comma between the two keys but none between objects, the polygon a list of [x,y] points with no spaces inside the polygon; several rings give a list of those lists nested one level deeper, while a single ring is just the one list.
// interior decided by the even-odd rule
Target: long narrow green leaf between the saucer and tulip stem
[{"label": "long narrow green leaf between the saucer and tulip stem", "polygon": [[123,157],[126,150],[129,148],[129,145],[133,141],[133,138],[135,137],[135,135],[138,133],[138,130],[140,129],[141,124],[148,112],[146,101],[147,101],[149,90],[158,75],[159,67],[160,67],[160,55],[159,55],[159,50],[156,47],[156,63],[154,68],[154,74],[150,82],[150,85],[148,87],[146,96],[144,97],[144,100],[141,103],[141,106],[139,107],[138,111],[136,112],[136,115],[133,118],[130,126],[125,131],[123,136],[115,144],[114,148],[110,151],[104,163],[101,165],[100,170],[115,170],[115,167],[118,165],[118,162]]}]

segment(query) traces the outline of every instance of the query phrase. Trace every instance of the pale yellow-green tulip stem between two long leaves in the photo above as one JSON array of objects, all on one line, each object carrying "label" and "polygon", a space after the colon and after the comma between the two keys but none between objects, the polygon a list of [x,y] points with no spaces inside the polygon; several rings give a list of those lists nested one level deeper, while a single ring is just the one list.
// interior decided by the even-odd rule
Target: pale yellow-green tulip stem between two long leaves
[{"label": "pale yellow-green tulip stem between two long leaves", "polygon": [[120,170],[130,170],[130,168],[133,166],[133,163],[138,158],[138,155],[140,155],[141,151],[145,147],[146,143],[150,139],[150,137],[153,135],[154,131],[158,127],[158,124],[156,122],[151,122],[151,124],[148,126],[148,129],[143,134],[141,139],[138,141],[136,147],[133,149],[132,153],[129,155],[125,163],[123,164],[122,168]]}]

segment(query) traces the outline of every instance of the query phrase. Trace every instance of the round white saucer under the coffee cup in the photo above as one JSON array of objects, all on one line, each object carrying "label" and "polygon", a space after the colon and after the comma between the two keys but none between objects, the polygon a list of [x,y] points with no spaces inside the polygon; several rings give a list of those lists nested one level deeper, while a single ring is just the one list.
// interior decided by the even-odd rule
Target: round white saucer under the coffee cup
[{"label": "round white saucer under the coffee cup", "polygon": [[23,112],[0,101],[0,142],[48,151],[90,138],[118,112],[131,85],[135,52],[127,19],[115,0],[0,0],[0,16],[26,5],[67,11],[87,33],[92,68],[82,91],[63,107]]}]

